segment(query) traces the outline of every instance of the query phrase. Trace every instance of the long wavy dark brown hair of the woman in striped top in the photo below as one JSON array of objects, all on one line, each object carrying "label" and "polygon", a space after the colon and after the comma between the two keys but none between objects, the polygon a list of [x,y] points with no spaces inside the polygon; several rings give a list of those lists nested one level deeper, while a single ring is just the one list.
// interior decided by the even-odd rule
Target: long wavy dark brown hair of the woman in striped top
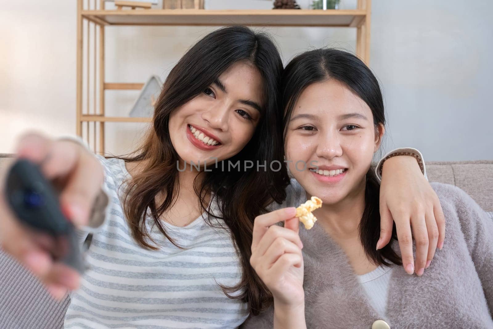
[{"label": "long wavy dark brown hair of the woman in striped top", "polygon": [[[236,163],[250,160],[263,164],[264,170],[251,169],[221,171],[222,164],[201,172],[202,183],[195,192],[200,206],[211,218],[221,218],[231,232],[242,267],[242,280],[234,287],[221,287],[231,298],[248,303],[253,314],[271,300],[271,294],[250,266],[253,219],[267,212],[272,202],[285,199],[285,187],[289,183],[285,166],[271,170],[272,161],[283,158],[282,110],[279,106],[279,83],[282,61],[279,52],[266,34],[254,33],[246,27],[227,27],[216,30],[198,41],[178,61],[166,79],[157,99],[152,128],[133,157],[117,157],[127,162],[148,160],[141,173],[128,183],[124,209],[134,239],[144,248],[157,249],[146,229],[145,214],[150,210],[154,225],[170,241],[175,243],[165,230],[159,217],[169,209],[178,194],[178,155],[169,132],[171,113],[181,105],[204,92],[221,73],[238,61],[246,61],[262,76],[263,108],[258,126],[249,143],[232,158],[223,161]],[[225,163],[225,167],[227,163]],[[273,166],[277,170],[278,166]],[[261,167],[263,169],[263,167]],[[212,171],[209,172],[209,169]],[[196,178],[197,179],[197,178]],[[162,204],[156,204],[159,192],[165,195]],[[222,217],[211,214],[205,199],[213,193],[220,200]],[[211,224],[212,225],[212,224]],[[178,246],[179,247],[179,246]],[[242,290],[241,294],[232,295]]]}]

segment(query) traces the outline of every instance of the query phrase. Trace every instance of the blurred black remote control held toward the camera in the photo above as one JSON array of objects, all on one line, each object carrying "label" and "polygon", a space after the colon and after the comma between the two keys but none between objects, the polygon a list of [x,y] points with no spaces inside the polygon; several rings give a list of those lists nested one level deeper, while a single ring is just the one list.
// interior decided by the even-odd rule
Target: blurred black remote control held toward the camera
[{"label": "blurred black remote control held toward the camera", "polygon": [[82,274],[85,264],[75,227],[63,215],[58,195],[38,165],[27,159],[18,159],[7,174],[5,196],[17,219],[51,235],[62,249],[62,256],[52,254],[55,260]]}]

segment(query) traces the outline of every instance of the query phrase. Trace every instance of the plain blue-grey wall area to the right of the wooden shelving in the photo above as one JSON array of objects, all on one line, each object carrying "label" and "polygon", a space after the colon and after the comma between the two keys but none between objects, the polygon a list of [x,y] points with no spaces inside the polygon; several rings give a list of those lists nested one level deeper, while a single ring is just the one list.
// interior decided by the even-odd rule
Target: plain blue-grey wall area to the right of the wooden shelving
[{"label": "plain blue-grey wall area to the right of the wooden shelving", "polygon": [[374,0],[371,68],[392,146],[493,159],[493,1]]}]

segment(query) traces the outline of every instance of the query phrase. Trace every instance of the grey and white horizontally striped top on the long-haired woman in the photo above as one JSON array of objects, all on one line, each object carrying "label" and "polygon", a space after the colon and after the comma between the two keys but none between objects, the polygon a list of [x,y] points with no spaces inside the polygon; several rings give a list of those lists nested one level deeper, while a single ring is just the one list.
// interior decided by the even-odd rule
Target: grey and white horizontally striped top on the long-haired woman
[{"label": "grey and white horizontally striped top on the long-haired woman", "polygon": [[123,215],[123,181],[129,178],[124,162],[98,158],[105,167],[109,216],[93,231],[86,254],[89,269],[80,289],[70,295],[65,328],[236,328],[242,324],[248,315],[246,304],[228,298],[218,286],[233,286],[241,279],[229,232],[211,227],[201,216],[185,227],[164,223],[184,249],[150,226],[162,247],[141,248]]}]

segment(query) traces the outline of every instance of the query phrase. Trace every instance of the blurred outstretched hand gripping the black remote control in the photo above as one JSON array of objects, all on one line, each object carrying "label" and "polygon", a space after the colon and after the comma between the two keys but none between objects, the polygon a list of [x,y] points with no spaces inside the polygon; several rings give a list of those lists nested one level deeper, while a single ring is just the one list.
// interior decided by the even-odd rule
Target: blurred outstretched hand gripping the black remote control
[{"label": "blurred outstretched hand gripping the black remote control", "polygon": [[[93,154],[70,140],[52,140],[30,132],[20,138],[16,156],[38,164],[44,177],[60,191],[66,218],[76,227],[88,224],[104,179],[103,167]],[[56,244],[51,236],[35,232],[15,218],[4,195],[7,170],[0,173],[0,246],[31,270],[53,297],[61,299],[67,290],[78,288],[79,274],[52,260]]]}]

